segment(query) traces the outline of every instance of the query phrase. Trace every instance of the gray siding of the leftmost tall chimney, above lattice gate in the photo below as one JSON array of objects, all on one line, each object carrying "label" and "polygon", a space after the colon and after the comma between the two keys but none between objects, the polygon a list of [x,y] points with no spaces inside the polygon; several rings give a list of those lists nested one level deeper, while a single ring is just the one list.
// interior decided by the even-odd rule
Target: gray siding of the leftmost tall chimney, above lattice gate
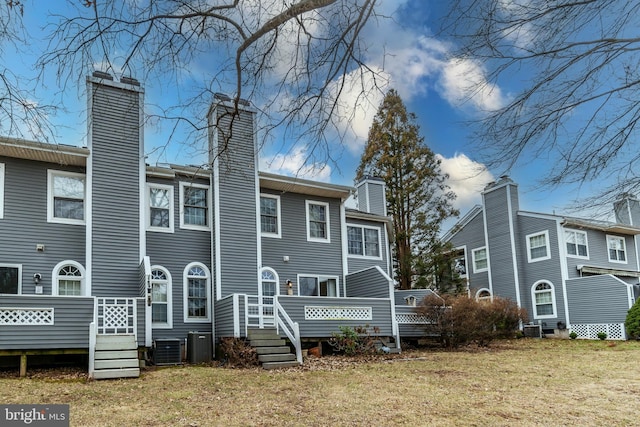
[{"label": "gray siding of the leftmost tall chimney, above lattice gate", "polygon": [[138,296],[140,94],[92,84],[92,291]]}]

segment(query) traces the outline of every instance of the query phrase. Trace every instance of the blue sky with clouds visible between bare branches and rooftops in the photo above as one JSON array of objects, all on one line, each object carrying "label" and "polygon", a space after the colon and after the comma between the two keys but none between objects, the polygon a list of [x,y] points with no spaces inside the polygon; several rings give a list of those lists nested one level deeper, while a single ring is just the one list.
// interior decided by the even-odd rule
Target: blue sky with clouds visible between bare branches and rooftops
[{"label": "blue sky with clouds visible between bare branches and rooftops", "polygon": [[[445,11],[441,3],[420,0],[380,2],[379,12],[392,19],[370,22],[364,37],[369,45],[367,65],[380,68],[384,63],[384,75],[388,87],[395,88],[403,98],[407,109],[414,112],[422,135],[429,147],[442,157],[442,168],[451,176],[450,185],[457,193],[456,207],[464,214],[474,204],[480,202],[479,191],[503,171],[482,171],[482,164],[470,144],[471,134],[466,121],[478,118],[483,110],[503,105],[510,94],[516,92],[518,82],[526,76],[511,76],[498,85],[488,85],[468,98],[469,90],[486,83],[486,70],[479,63],[459,61],[449,57],[455,47],[451,41],[439,39],[437,33],[439,17]],[[47,3],[48,13],[75,13],[63,2]],[[39,2],[25,4],[24,22],[29,31],[29,44],[22,47],[19,55],[10,45],[4,46],[4,65],[24,78],[36,78],[33,61],[47,46],[45,24],[51,20]],[[205,73],[206,61],[193,64],[194,72]],[[96,64],[97,65],[97,64]],[[92,70],[86,70],[85,75]],[[53,71],[51,71],[53,73]],[[84,144],[86,129],[86,101],[84,87],[79,78],[61,87],[53,74],[41,79],[33,95],[33,102],[53,103],[64,109],[50,117],[57,126],[56,142],[70,145]],[[189,93],[189,78],[180,80],[176,87],[162,85],[156,81],[142,82],[146,99],[150,104],[162,105],[163,100],[175,99],[176,93]],[[232,89],[229,89],[232,90]],[[348,96],[349,94],[347,94]],[[324,168],[304,165],[307,157],[304,141],[286,152],[288,141],[275,140],[261,152],[261,168],[274,173],[297,174],[310,179],[318,179],[336,184],[352,185],[355,169],[359,163],[369,124],[375,115],[377,105],[382,100],[373,99],[370,107],[361,106],[349,137],[343,146],[333,147],[337,155],[336,164]],[[206,111],[203,111],[204,115]],[[163,146],[167,140],[167,128],[161,124],[145,129],[145,140],[150,162],[197,164],[204,161],[192,148],[172,142],[169,150],[161,155],[154,146]],[[551,161],[553,159],[550,159]],[[537,187],[536,179],[547,168],[549,159],[523,161],[509,171],[511,178],[520,185],[521,208],[538,212],[560,213],[567,204],[579,195],[589,195],[589,188],[560,187],[553,191]],[[320,172],[318,172],[320,170]],[[313,171],[313,172],[312,172]]]}]

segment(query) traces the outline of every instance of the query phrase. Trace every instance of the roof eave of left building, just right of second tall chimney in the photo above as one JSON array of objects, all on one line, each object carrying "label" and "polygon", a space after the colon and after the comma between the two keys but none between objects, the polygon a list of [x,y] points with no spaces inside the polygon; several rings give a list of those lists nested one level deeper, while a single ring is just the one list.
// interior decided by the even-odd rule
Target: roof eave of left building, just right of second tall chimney
[{"label": "roof eave of left building, just right of second tall chimney", "polygon": [[355,191],[353,187],[346,185],[311,181],[269,172],[259,171],[258,177],[260,179],[260,187],[282,191],[283,193],[291,192],[346,200]]}]

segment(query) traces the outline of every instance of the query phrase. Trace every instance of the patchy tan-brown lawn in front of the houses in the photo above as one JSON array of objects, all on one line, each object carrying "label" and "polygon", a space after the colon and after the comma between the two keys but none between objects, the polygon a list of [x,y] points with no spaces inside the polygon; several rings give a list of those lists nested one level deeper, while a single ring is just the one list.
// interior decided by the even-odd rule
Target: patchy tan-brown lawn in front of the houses
[{"label": "patchy tan-brown lawn in front of the houses", "polygon": [[9,371],[0,403],[68,403],[74,426],[620,426],[637,424],[638,366],[639,342],[527,339],[281,371],[168,367],[107,381]]}]

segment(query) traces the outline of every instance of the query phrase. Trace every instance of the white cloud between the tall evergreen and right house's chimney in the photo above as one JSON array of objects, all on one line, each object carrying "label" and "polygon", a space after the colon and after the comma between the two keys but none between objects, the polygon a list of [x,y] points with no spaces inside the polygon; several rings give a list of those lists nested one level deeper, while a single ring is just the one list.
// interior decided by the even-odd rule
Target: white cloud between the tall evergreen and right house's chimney
[{"label": "white cloud between the tall evergreen and right house's chimney", "polygon": [[482,163],[475,162],[465,154],[456,153],[451,158],[436,155],[440,161],[442,172],[449,174],[447,183],[457,198],[454,207],[464,215],[474,205],[482,202],[480,193],[491,181],[495,181]]}]

